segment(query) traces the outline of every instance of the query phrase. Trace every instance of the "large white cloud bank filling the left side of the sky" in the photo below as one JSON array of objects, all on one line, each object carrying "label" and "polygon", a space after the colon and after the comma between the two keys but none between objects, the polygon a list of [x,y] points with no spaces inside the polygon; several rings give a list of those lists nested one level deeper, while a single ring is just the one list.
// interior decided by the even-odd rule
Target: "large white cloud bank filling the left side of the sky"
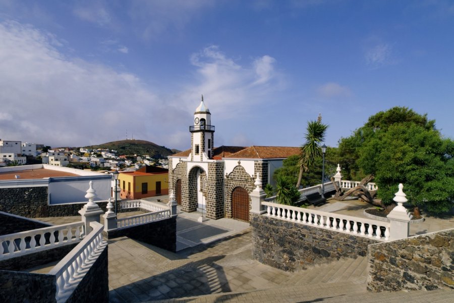
[{"label": "large white cloud bank filling the left side of the sky", "polygon": [[162,144],[183,128],[174,119],[190,115],[163,104],[134,74],[68,58],[31,26],[0,23],[0,41],[3,139],[74,146],[123,139],[127,128]]}]

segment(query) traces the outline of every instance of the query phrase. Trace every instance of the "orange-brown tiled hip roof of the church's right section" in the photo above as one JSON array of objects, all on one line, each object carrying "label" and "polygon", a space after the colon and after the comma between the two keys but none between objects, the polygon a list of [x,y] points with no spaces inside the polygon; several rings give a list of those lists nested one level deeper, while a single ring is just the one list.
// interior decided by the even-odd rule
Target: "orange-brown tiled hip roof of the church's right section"
[{"label": "orange-brown tiled hip roof of the church's right section", "polygon": [[250,146],[224,158],[235,159],[282,159],[300,153],[300,147],[288,146]]}]

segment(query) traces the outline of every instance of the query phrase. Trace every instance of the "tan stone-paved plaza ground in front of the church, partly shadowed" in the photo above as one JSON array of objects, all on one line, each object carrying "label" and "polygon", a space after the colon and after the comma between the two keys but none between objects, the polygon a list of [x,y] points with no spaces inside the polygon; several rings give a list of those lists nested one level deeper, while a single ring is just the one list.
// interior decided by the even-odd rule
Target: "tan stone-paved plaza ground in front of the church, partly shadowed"
[{"label": "tan stone-paved plaza ground in front of the church, partly shadowed", "polygon": [[[166,200],[163,199],[165,203]],[[331,201],[317,209],[363,217],[368,205]],[[119,217],[134,213],[119,214]],[[177,218],[177,252],[127,237],[109,240],[110,302],[452,302],[454,291],[366,291],[367,259],[344,259],[285,272],[252,260],[251,228],[232,219]],[[58,222],[55,222],[56,220]],[[67,223],[80,217],[43,219]],[[412,224],[421,234],[454,227],[449,219]]]}]

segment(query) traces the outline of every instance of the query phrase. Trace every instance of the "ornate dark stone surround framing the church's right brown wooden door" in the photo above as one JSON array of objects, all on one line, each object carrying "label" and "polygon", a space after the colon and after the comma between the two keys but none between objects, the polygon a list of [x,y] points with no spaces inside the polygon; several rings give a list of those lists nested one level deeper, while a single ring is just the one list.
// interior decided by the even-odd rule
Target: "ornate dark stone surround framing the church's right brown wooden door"
[{"label": "ornate dark stone surround framing the church's right brown wooden door", "polygon": [[[232,192],[237,187],[243,187],[250,194],[254,190],[255,179],[250,176],[241,166],[241,161],[234,170],[225,176],[225,217],[232,218]],[[249,210],[251,209],[251,197],[249,197]],[[249,214],[249,218],[251,215]]]}]

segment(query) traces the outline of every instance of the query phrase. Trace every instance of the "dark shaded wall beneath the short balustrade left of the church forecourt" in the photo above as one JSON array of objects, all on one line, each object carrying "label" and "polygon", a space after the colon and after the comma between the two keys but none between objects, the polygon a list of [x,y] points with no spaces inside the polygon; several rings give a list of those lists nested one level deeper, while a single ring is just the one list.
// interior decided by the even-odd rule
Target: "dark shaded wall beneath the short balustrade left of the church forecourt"
[{"label": "dark shaded wall beneath the short balustrade left of the church forecourt", "polygon": [[177,218],[168,218],[124,229],[104,232],[107,239],[122,236],[142,241],[170,251],[177,250]]}]

